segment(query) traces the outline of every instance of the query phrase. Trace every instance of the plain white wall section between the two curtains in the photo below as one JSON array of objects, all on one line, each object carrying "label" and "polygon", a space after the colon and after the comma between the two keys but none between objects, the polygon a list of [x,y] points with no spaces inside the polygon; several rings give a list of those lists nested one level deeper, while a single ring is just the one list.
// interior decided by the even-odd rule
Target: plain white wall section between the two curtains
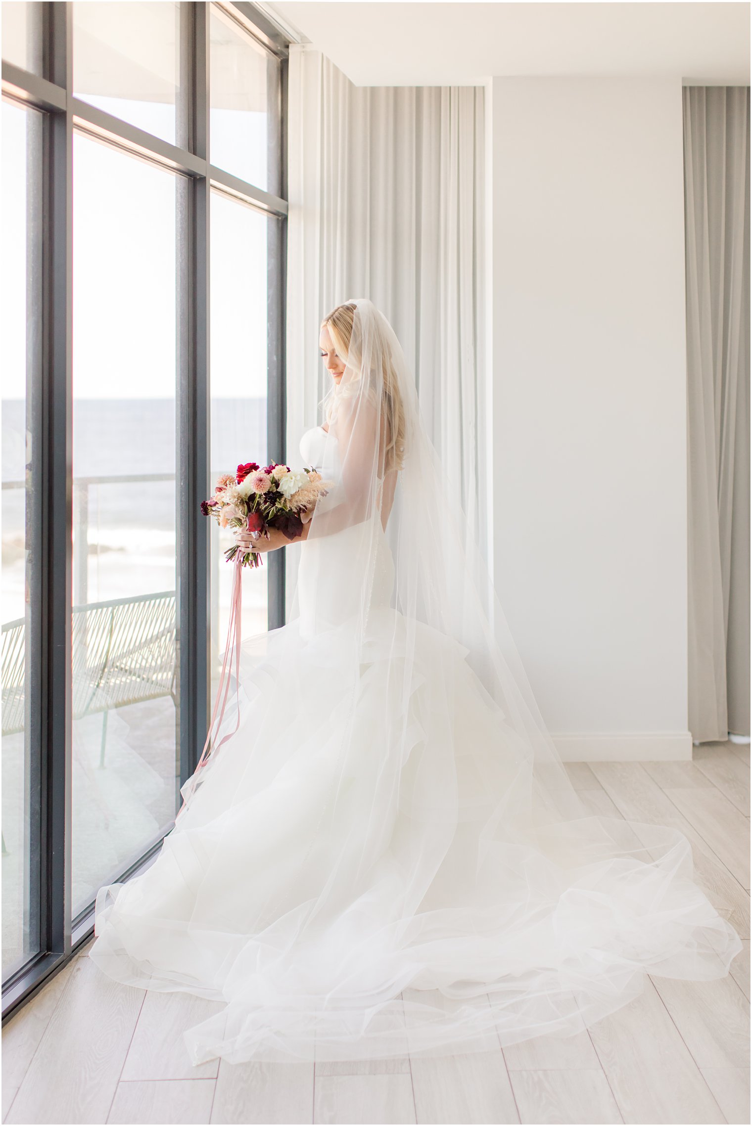
[{"label": "plain white wall section between the two curtains", "polygon": [[690,757],[681,82],[487,95],[496,590],[563,757]]}]

